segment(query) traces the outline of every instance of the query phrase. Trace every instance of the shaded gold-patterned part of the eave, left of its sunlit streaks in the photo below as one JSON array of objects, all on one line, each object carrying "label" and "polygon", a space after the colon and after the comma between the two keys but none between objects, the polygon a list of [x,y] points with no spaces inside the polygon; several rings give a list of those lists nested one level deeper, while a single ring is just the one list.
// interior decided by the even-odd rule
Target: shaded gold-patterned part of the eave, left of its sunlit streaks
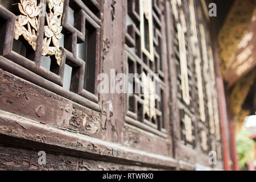
[{"label": "shaded gold-patterned part of the eave, left of its sunlit streaks", "polygon": [[251,17],[255,14],[255,6],[255,0],[236,0],[225,19],[224,26],[218,35],[222,75],[225,75],[232,64],[238,45],[241,46],[240,43],[247,34],[246,29],[251,23]]}]

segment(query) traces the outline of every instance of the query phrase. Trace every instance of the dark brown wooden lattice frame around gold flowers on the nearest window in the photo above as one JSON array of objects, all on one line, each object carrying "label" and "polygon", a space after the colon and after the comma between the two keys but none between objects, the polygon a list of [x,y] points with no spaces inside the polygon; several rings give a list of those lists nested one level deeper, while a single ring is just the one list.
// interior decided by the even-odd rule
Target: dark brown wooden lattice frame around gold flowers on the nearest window
[{"label": "dark brown wooden lattice frame around gold flowers on the nearest window", "polygon": [[[41,0],[41,2],[46,3],[46,0]],[[39,53],[35,53],[34,60],[29,60],[26,57],[23,57],[12,50],[16,16],[9,10],[7,10],[5,7],[0,5],[0,19],[6,22],[6,26],[3,26],[1,28],[1,31],[5,32],[5,39],[1,39],[1,42],[3,42],[3,47],[1,47],[0,49],[0,68],[10,73],[13,73],[16,76],[22,77],[27,81],[33,82],[34,84],[39,85],[47,90],[50,90],[51,92],[60,94],[61,96],[64,96],[72,101],[89,107],[90,109],[100,111],[100,106],[98,105],[98,93],[96,92],[96,78],[99,74],[101,65],[101,19],[98,17],[98,15],[94,14],[81,0],[73,0],[72,3],[76,3],[76,6],[78,6],[81,9],[81,13],[78,18],[78,21],[80,21],[80,25],[77,25],[77,27],[73,27],[67,23],[67,10],[69,6],[69,0],[65,0],[62,26],[64,27],[64,30],[70,34],[69,41],[71,40],[72,44],[67,44],[67,46],[65,46],[64,41],[65,48],[61,48],[63,63],[58,68],[57,75],[56,73],[53,73],[51,71],[48,71],[47,69],[44,69],[43,67],[40,67],[41,55]],[[90,3],[97,7],[98,11],[101,11],[101,5],[97,1],[90,0]],[[44,23],[44,19],[44,16],[39,17],[40,22]],[[88,92],[88,90],[85,90],[83,88],[85,62],[76,57],[77,42],[82,42],[85,40],[85,22],[89,22],[91,26],[93,26],[96,29],[96,58],[94,60],[95,77],[92,80],[95,85],[94,93]],[[44,24],[40,26],[44,26]],[[43,28],[41,28],[40,31],[41,32],[38,36],[38,44],[42,45]],[[65,90],[62,87],[65,63],[72,64],[73,67],[76,68],[76,71],[72,73],[73,78],[71,79],[71,90],[73,92],[71,92],[70,90]]]}]

